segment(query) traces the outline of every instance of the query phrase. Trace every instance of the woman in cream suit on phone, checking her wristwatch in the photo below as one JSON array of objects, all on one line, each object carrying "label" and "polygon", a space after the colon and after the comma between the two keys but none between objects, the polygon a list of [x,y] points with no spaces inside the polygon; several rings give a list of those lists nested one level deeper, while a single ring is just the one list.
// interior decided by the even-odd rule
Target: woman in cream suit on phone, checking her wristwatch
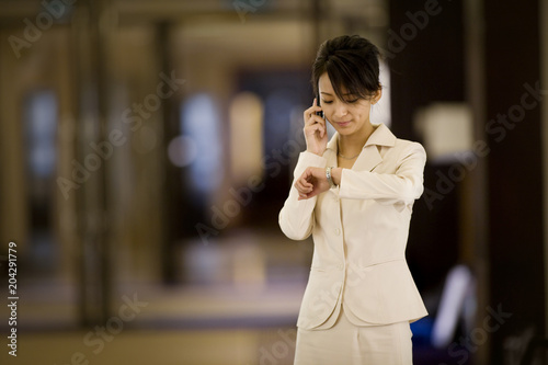
[{"label": "woman in cream suit on phone, checking her wristwatch", "polygon": [[315,242],[295,364],[412,364],[409,323],[427,315],[404,255],[426,153],[372,124],[378,57],[369,41],[341,36],[312,67],[320,102],[305,111],[307,149],[279,213],[288,238]]}]

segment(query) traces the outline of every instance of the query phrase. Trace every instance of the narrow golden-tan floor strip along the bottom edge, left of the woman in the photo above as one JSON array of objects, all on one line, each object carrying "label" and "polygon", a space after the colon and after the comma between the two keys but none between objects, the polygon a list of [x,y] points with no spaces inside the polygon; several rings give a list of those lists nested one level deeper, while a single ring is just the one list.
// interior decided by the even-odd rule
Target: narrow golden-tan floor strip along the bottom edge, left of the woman
[{"label": "narrow golden-tan floor strip along the bottom edge, left of the woman", "polygon": [[22,337],[16,363],[282,365],[293,364],[295,335],[295,328],[128,330],[90,347],[87,332],[35,333]]}]

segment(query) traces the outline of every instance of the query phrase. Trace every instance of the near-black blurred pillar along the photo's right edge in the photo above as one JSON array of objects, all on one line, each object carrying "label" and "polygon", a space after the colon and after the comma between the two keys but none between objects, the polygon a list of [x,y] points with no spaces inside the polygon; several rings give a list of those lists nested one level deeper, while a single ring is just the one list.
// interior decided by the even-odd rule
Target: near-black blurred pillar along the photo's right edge
[{"label": "near-black blurred pillar along the photo's right edge", "polygon": [[505,313],[491,331],[490,364],[507,363],[525,330],[545,337],[539,4],[483,1],[488,306]]}]

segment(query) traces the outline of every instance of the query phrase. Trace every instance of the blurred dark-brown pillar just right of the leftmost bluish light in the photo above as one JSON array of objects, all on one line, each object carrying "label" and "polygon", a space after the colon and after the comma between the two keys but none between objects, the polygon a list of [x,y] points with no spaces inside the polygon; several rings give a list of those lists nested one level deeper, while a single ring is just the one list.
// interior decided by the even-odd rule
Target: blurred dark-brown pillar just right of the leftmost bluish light
[{"label": "blurred dark-brown pillar just right of the leftmost bluish light", "polygon": [[72,21],[76,52],[77,163],[81,179],[77,190],[79,231],[80,321],[83,326],[105,323],[111,315],[112,242],[109,231],[107,158],[91,145],[107,137],[107,45],[112,26],[109,0],[77,3]]}]

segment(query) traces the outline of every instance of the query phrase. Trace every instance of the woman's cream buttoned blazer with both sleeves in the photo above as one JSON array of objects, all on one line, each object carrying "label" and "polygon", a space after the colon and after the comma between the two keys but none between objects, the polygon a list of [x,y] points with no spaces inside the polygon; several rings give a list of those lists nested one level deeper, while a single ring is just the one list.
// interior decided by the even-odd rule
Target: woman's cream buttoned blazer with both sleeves
[{"label": "woman's cream buttoned blazer with both sleeves", "polygon": [[[295,179],[308,167],[336,167],[338,138],[335,133],[323,156],[301,152]],[[311,233],[315,243],[299,328],[329,328],[341,306],[356,324],[414,321],[427,315],[406,261],[425,162],[420,144],[398,139],[380,124],[353,168],[342,171],[338,187],[298,201],[292,184],[279,227],[294,240]]]}]

